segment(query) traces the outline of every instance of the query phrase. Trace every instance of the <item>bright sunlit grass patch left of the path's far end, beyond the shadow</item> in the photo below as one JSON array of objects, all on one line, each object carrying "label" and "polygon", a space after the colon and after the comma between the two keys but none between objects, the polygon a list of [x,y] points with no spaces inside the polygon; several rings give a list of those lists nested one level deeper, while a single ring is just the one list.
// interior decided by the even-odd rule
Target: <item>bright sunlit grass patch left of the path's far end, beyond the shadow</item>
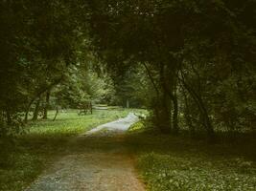
[{"label": "bright sunlit grass patch left of the path's far end, beyond the shadow", "polygon": [[[79,116],[78,111],[72,110],[60,113],[55,121],[51,119],[32,122],[28,129],[29,136],[72,136],[87,131],[97,125],[127,116],[128,111],[101,111],[96,110],[93,115]],[[51,116],[49,117],[51,118]]]}]

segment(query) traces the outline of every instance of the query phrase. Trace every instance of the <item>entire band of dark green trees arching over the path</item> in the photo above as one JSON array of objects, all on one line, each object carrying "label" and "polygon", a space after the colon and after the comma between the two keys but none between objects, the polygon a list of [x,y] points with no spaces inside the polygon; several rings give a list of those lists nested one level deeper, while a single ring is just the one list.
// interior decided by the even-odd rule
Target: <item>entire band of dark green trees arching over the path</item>
[{"label": "entire band of dark green trees arching over the path", "polygon": [[164,134],[255,132],[255,0],[0,1],[0,136],[30,112],[143,107]]}]

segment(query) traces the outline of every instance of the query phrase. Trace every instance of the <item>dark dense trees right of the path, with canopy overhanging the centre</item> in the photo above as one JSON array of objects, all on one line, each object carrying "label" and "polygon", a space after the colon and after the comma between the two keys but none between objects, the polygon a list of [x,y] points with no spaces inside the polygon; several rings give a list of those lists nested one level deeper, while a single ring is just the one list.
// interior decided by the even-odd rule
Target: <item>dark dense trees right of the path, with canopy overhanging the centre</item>
[{"label": "dark dense trees right of the path, with canopy overhanging the centre", "polygon": [[[255,6],[239,1],[90,1],[92,42],[116,75],[144,67],[162,132],[255,130]],[[153,94],[153,96],[152,96]]]}]

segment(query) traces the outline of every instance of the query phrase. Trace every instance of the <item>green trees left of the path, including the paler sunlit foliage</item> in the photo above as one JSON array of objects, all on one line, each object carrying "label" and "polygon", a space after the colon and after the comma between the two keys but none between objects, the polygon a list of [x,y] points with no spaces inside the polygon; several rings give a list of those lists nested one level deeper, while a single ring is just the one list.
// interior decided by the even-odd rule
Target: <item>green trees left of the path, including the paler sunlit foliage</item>
[{"label": "green trees left of the path, including the paler sunlit foliage", "polygon": [[114,94],[107,74],[93,71],[98,60],[71,2],[1,1],[0,10],[0,137],[49,109],[86,112]]}]

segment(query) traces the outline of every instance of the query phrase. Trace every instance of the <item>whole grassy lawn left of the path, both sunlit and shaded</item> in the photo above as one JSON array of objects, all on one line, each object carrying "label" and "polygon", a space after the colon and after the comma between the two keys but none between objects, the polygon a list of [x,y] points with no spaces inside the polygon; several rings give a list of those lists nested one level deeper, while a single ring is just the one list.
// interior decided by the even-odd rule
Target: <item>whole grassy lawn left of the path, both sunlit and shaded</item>
[{"label": "whole grassy lawn left of the path, both sunlit and shaded", "polygon": [[99,124],[125,117],[130,110],[94,111],[79,116],[78,111],[49,112],[49,119],[30,122],[24,132],[12,141],[0,139],[0,190],[19,191],[26,188],[49,162],[62,155],[68,139]]}]

